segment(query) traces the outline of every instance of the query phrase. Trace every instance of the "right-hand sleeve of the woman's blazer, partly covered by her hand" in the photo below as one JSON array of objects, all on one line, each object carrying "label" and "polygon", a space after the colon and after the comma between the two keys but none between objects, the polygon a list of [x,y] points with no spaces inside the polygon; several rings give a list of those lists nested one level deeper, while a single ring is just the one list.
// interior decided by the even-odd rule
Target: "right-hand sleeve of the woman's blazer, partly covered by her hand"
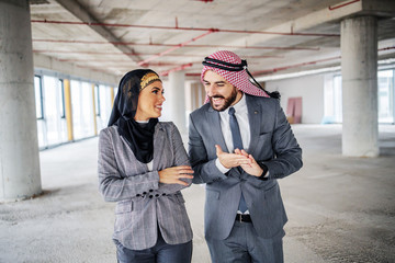
[{"label": "right-hand sleeve of the woman's blazer, partly covered by her hand", "polygon": [[[174,124],[171,123],[170,129],[171,146],[174,152],[173,167],[190,165],[185,148],[182,144],[180,132]],[[159,184],[159,191],[163,193],[176,193],[182,188],[189,187],[192,184],[192,179],[182,179],[188,183],[188,186],[181,184]]]}]

